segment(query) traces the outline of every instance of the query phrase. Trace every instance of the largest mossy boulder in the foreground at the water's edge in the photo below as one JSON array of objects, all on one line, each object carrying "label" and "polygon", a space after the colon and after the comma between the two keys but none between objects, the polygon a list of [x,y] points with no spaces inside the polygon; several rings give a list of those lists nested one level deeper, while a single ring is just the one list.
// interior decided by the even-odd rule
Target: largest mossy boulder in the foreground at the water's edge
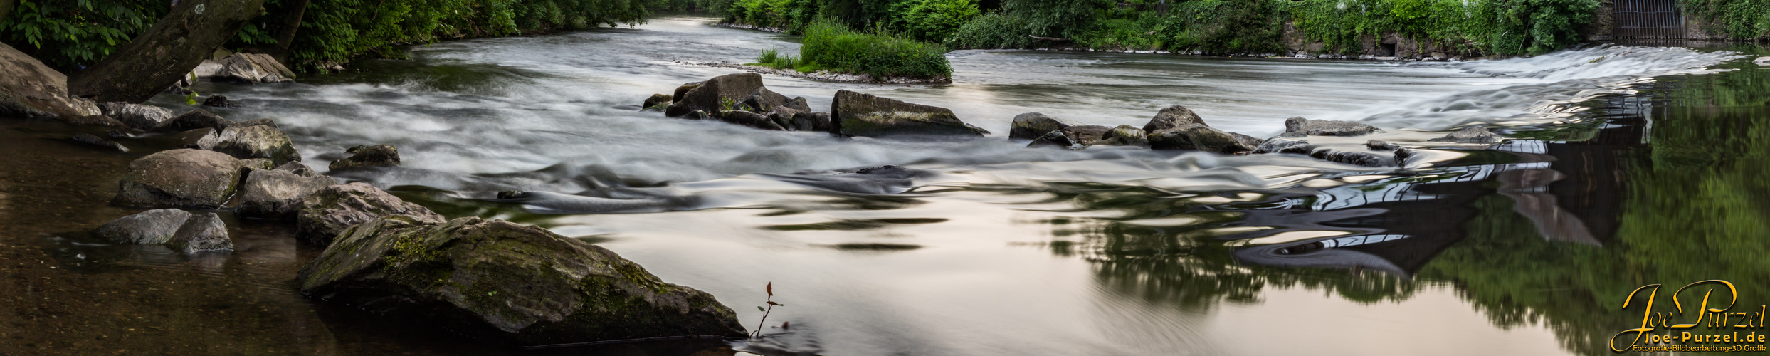
[{"label": "largest mossy boulder in the foreground at the water's edge", "polygon": [[745,337],[712,294],[540,227],[458,218],[356,225],[301,269],[301,292],[520,345]]}]

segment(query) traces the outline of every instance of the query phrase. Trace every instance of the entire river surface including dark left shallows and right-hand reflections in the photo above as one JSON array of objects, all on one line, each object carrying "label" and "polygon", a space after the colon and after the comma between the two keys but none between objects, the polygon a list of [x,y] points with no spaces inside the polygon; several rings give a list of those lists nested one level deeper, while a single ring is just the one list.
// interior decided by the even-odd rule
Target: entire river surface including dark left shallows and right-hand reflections
[{"label": "entire river surface including dark left shallows and right-hand reflections", "polygon": [[[839,140],[639,112],[650,94],[736,73],[697,62],[798,51],[791,35],[710,23],[437,43],[411,48],[412,60],[363,60],[301,83],[196,90],[239,103],[214,110],[223,117],[276,119],[317,168],[345,147],[398,145],[404,166],[340,177],[451,218],[602,244],[712,292],[749,328],[766,283],[786,305],[758,340],[550,352],[1604,354],[1605,338],[1634,328],[1618,305],[1644,283],[1731,278],[1758,298],[1742,303],[1770,303],[1751,294],[1770,287],[1770,243],[1756,230],[1770,209],[1751,179],[1763,165],[1749,161],[1763,149],[1752,119],[1770,113],[1770,69],[1738,51],[1597,46],[1412,64],[954,51],[952,85],[765,76],[812,108],[843,89],[952,108],[995,133],[977,140]],[[1005,138],[1016,113],[1142,126],[1170,104],[1253,136],[1301,115],[1363,120],[1389,131],[1381,138],[1434,149],[1405,168],[1366,168]],[[1469,124],[1519,140],[1425,142]],[[7,124],[7,140],[51,136],[51,126]],[[112,170],[127,161],[90,159]],[[908,174],[851,174],[881,165]],[[115,179],[60,190],[103,200],[94,197],[113,193]],[[510,190],[545,193],[494,198]],[[19,298],[14,324],[106,319],[67,329],[124,337],[0,333],[0,344],[503,352],[306,301],[289,280],[319,248],[274,221],[230,220],[237,253],[188,259],[83,232],[127,209],[27,214],[64,202],[18,191],[0,193],[5,221],[67,223],[7,228],[9,246],[51,255],[46,266],[67,276],[44,280],[87,290],[60,287],[53,298],[83,298],[60,306]],[[129,322],[147,331],[150,321],[172,342],[127,337]]]}]

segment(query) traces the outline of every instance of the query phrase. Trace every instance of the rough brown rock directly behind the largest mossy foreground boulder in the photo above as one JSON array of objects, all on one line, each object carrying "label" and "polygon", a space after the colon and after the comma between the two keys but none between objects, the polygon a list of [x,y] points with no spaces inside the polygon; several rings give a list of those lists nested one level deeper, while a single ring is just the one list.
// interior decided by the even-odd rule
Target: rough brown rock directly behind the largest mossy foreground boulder
[{"label": "rough brown rock directly behind the largest mossy foreground boulder", "polygon": [[331,244],[333,237],[350,225],[373,221],[382,216],[404,214],[414,223],[442,223],[442,216],[423,205],[400,200],[381,188],[363,182],[326,186],[301,198],[296,213],[296,236],[320,246]]}]

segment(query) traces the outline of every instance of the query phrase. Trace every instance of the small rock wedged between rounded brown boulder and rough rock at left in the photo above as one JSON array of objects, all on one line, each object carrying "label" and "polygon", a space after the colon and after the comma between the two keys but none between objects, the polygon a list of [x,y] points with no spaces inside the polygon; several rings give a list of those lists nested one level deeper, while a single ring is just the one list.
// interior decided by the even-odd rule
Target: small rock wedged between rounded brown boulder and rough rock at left
[{"label": "small rock wedged between rounded brown boulder and rough rock at left", "polygon": [[[290,161],[290,165],[301,163]],[[306,172],[312,174],[313,170]],[[301,209],[303,198],[336,184],[338,181],[333,177],[301,175],[299,168],[251,170],[246,175],[246,184],[241,188],[239,214],[246,218],[292,220],[296,218],[296,211]]]}]

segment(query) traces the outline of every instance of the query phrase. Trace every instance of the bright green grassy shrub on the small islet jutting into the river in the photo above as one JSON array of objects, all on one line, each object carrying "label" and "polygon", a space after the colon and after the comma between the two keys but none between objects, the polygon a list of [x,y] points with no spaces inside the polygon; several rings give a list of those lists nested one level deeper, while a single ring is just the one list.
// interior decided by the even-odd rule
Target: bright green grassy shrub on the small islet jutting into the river
[{"label": "bright green grassy shrub on the small islet jutting into the river", "polygon": [[756,62],[802,73],[834,71],[876,78],[950,78],[947,48],[915,39],[864,34],[823,19],[804,30],[800,57],[765,50]]}]

